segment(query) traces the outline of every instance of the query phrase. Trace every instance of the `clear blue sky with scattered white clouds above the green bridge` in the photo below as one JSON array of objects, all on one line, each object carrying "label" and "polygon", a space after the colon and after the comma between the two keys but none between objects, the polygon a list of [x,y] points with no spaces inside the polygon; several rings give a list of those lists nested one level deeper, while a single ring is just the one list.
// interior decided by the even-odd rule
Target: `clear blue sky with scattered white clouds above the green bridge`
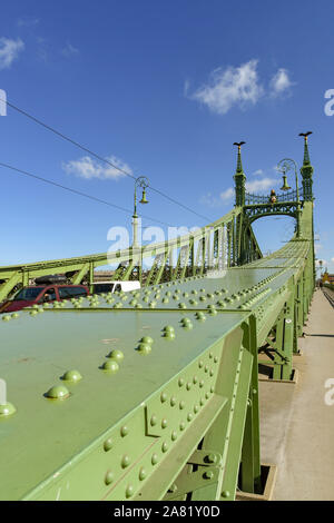
[{"label": "clear blue sky with scattered white clouds above the green bridge", "polygon": [[[233,206],[234,141],[245,140],[250,188],[279,187],[312,130],[317,257],[334,272],[334,4],[323,0],[124,2],[13,0],[0,20],[0,89],[8,101],[214,220]],[[132,208],[134,181],[12,109],[0,117],[0,161]],[[0,264],[105,251],[130,216],[0,168]],[[289,177],[291,185],[294,182]],[[148,193],[145,215],[205,219]],[[153,224],[145,219],[144,225]],[[264,251],[293,233],[258,220]]]}]

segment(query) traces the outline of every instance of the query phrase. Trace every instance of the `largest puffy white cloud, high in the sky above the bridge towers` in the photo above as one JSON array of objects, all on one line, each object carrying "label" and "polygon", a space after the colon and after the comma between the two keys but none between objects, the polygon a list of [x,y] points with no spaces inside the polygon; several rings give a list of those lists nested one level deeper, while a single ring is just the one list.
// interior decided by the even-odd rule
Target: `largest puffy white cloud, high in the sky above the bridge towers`
[{"label": "largest puffy white cloud, high in the sky above the bridge towers", "polygon": [[217,115],[225,115],[233,106],[255,105],[264,92],[256,68],[257,60],[249,60],[239,67],[218,68],[212,72],[208,83],[190,98]]}]

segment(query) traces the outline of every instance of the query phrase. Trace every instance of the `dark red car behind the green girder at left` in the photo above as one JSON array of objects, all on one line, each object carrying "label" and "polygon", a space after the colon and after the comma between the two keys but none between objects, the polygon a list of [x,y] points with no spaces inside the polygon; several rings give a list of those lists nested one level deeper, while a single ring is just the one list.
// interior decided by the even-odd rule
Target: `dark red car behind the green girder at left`
[{"label": "dark red car behind the green girder at left", "polygon": [[3,302],[0,313],[13,313],[24,307],[46,302],[61,302],[62,299],[86,297],[89,288],[85,285],[39,285],[37,287],[24,287],[12,298]]}]

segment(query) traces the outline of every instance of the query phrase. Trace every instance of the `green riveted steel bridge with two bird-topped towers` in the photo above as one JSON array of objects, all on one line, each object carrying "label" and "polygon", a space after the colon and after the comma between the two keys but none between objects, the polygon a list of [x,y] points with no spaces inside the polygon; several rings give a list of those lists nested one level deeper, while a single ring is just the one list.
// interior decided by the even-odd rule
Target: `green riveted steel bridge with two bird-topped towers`
[{"label": "green riveted steel bridge with two bird-topped towers", "polygon": [[[166,243],[0,267],[0,299],[49,274],[140,279],[132,293],[2,315],[1,500],[234,500],[265,486],[258,366],[289,381],[315,284],[313,167],[302,187],[249,195],[238,146],[236,203]],[[291,216],[263,257],[252,224]],[[154,257],[148,274],[141,260]]]}]

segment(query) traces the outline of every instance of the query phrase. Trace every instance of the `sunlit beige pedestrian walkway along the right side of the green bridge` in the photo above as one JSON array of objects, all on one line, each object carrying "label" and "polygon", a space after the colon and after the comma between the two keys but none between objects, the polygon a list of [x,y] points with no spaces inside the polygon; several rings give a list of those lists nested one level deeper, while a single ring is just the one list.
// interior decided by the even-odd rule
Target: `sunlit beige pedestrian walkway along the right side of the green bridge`
[{"label": "sunlit beige pedestrian walkway along the right side of the green bridge", "polygon": [[333,500],[334,405],[325,382],[334,378],[333,308],[316,290],[296,385],[261,383],[262,461],[278,465],[275,500]]}]

